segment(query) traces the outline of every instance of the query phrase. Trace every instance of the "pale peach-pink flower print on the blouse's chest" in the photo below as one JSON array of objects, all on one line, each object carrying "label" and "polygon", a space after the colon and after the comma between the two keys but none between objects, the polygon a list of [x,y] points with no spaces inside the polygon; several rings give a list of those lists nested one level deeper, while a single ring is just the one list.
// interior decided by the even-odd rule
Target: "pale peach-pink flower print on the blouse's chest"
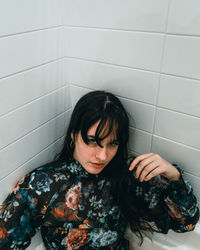
[{"label": "pale peach-pink flower print on the blouse's chest", "polygon": [[77,210],[81,203],[81,183],[69,189],[66,194],[66,205],[72,210]]}]

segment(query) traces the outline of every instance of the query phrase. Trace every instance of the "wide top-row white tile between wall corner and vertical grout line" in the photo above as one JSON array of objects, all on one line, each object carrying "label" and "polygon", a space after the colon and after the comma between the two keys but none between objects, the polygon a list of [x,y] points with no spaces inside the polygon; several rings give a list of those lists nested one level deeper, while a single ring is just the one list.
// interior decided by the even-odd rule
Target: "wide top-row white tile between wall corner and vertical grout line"
[{"label": "wide top-row white tile between wall corner and vertical grout line", "polygon": [[162,32],[169,0],[66,0],[64,23]]}]

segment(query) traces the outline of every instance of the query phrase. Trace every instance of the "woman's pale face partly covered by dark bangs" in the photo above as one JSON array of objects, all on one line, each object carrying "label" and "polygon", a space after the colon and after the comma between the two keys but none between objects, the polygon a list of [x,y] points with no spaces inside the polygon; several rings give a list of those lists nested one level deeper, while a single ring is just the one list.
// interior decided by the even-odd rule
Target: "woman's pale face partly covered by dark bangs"
[{"label": "woman's pale face partly covered by dark bangs", "polygon": [[[103,141],[101,141],[102,147],[96,143],[95,133],[98,124],[99,121],[91,126],[91,128],[88,130],[88,144],[83,141],[80,132],[75,138],[73,157],[90,174],[99,174],[116,155],[119,147],[119,143],[116,140],[114,131],[111,132],[109,136],[107,136]],[[100,137],[103,137],[104,133],[106,132],[107,130],[105,128]]]}]

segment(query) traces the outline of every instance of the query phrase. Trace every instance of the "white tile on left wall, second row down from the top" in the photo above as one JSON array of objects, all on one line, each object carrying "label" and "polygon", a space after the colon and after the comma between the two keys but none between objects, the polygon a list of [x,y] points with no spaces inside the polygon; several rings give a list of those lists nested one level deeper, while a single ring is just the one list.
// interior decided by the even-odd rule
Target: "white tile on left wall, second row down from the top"
[{"label": "white tile on left wall, second row down from the top", "polygon": [[62,28],[0,38],[0,78],[63,56]]}]

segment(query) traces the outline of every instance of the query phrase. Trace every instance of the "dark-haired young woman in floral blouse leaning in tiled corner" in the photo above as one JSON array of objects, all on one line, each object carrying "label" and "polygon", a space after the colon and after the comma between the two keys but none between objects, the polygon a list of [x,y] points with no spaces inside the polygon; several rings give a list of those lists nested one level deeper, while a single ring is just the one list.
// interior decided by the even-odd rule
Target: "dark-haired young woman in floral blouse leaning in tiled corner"
[{"label": "dark-haired young woman in floral blouse leaning in tiled corner", "polygon": [[[15,186],[0,208],[0,248],[25,249],[36,229],[47,249],[129,249],[129,223],[167,233],[193,230],[199,218],[181,170],[149,153],[129,158],[129,119],[104,91],[76,104],[56,160]],[[154,226],[149,222],[154,222]]]}]

